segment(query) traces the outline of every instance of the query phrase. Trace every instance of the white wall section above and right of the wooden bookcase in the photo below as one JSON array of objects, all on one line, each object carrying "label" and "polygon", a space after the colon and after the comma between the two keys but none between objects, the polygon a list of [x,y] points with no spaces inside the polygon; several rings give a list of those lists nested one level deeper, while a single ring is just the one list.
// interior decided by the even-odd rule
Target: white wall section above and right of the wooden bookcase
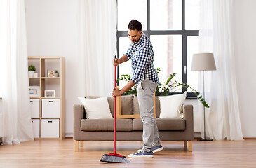
[{"label": "white wall section above and right of the wooden bookcase", "polygon": [[66,135],[73,132],[73,104],[81,95],[74,0],[25,0],[29,56],[62,56],[66,59]]}]

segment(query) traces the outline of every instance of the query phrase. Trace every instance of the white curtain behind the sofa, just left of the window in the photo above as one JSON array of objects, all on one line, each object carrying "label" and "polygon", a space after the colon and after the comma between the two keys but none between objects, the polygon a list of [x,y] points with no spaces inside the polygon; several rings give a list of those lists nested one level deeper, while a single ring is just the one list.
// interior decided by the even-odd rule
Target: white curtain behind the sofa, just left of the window
[{"label": "white curtain behind the sofa, just left of the window", "polygon": [[116,55],[116,0],[77,0],[79,57],[86,96],[110,96]]}]

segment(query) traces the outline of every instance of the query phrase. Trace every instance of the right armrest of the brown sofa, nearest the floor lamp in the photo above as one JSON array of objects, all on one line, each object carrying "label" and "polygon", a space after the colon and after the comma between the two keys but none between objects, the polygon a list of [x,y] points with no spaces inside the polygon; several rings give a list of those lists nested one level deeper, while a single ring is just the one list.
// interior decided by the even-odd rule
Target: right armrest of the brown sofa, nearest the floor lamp
[{"label": "right armrest of the brown sofa, nearest the floor lamp", "polygon": [[187,141],[193,141],[194,139],[194,116],[193,116],[193,106],[183,105],[182,111],[184,114],[184,120],[186,120],[186,139]]}]

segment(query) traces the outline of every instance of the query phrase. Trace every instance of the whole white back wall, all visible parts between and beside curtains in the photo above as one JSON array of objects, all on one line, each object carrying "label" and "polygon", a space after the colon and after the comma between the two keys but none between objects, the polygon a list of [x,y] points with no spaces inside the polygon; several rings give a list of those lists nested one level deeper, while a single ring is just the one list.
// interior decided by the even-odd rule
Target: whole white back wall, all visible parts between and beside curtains
[{"label": "whole white back wall, all visible parts between and beside curtains", "polygon": [[[243,137],[256,137],[256,97],[254,96],[253,67],[256,64],[255,39],[256,1],[234,1],[234,33],[236,53],[236,78],[241,111]],[[76,10],[74,0],[25,0],[27,19],[27,46],[29,56],[63,56],[66,59],[66,134],[73,132],[73,104],[76,97],[84,96],[79,90],[79,75],[76,75]],[[194,131],[200,130],[197,101],[186,100],[194,105]]]}]

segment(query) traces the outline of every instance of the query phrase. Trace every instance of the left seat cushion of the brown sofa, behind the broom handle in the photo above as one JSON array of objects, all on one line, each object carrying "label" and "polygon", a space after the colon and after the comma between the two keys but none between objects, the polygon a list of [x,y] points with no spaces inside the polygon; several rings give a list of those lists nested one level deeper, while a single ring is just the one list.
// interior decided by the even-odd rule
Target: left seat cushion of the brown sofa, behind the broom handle
[{"label": "left seat cushion of the brown sofa, behind the broom handle", "polygon": [[[83,131],[114,131],[114,119],[82,119]],[[132,119],[116,119],[116,131],[132,131]]]}]

